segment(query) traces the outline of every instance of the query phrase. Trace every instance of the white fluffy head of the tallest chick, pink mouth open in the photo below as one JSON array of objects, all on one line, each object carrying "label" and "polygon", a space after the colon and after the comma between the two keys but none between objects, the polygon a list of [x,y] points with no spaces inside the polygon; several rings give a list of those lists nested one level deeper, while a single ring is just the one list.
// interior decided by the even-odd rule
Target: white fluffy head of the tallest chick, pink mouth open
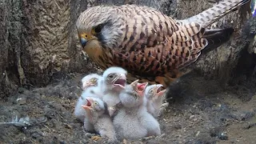
[{"label": "white fluffy head of the tallest chick, pink mouth open", "polygon": [[112,66],[104,71],[102,79],[104,90],[121,91],[126,86],[127,71],[121,67]]}]

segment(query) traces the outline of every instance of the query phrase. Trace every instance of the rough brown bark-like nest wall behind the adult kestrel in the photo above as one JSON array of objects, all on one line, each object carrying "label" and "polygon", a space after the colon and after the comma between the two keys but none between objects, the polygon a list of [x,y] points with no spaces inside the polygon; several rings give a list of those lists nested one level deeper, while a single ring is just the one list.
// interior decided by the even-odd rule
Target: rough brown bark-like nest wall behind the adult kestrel
[{"label": "rough brown bark-like nest wall behind the adult kestrel", "polygon": [[[214,1],[216,2],[216,1]],[[138,4],[154,7],[171,17],[182,19],[210,8],[206,0],[1,0],[0,2],[0,82],[1,98],[18,86],[46,86],[54,75],[72,72],[87,74],[98,70],[84,57],[78,42],[75,21],[87,6],[101,4]],[[240,52],[254,54],[248,34],[242,34],[243,24],[249,18],[250,5],[242,6],[222,18],[216,27],[232,26],[235,33],[229,42],[216,50],[202,54],[192,68],[207,78],[228,82],[237,66]],[[251,20],[253,21],[253,20]],[[254,40],[255,41],[255,40]],[[255,42],[254,42],[255,43]],[[249,54],[249,53],[248,53]]]}]

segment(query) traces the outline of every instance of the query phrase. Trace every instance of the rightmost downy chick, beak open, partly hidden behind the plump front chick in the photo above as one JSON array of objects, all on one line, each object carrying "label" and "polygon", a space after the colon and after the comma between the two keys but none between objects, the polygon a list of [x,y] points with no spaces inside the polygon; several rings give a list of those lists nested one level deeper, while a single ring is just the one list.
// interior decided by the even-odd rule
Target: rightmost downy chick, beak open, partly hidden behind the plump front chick
[{"label": "rightmost downy chick, beak open, partly hidden behind the plump front chick", "polygon": [[147,86],[145,90],[145,105],[150,114],[157,118],[162,107],[162,97],[166,90],[161,90],[161,84]]}]

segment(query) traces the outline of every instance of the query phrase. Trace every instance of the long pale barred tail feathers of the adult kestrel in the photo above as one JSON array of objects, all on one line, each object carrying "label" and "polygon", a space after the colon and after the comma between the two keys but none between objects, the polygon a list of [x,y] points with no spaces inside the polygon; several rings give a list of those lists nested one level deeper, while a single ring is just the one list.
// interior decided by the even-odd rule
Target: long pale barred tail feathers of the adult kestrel
[{"label": "long pale barred tail feathers of the adult kestrel", "polygon": [[231,11],[236,10],[238,6],[242,6],[250,0],[226,0],[219,2],[216,6],[202,11],[193,17],[186,18],[184,20],[178,20],[180,25],[184,25],[190,22],[198,22],[202,27],[207,27],[216,22],[219,18],[222,18]]}]

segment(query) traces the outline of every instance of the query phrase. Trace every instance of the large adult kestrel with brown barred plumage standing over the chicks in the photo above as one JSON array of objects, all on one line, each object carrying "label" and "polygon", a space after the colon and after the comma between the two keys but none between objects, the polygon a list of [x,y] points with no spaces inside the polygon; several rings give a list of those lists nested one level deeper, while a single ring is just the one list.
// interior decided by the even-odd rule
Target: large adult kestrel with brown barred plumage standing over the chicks
[{"label": "large adult kestrel with brown barred plumage standing over the chicks", "polygon": [[[233,10],[245,0],[225,2],[237,3],[224,4]],[[204,16],[215,20],[226,14],[225,10],[211,8],[214,17],[208,12]],[[94,6],[79,16],[77,29],[83,50],[103,70],[120,66],[128,72],[127,82],[140,79],[166,88],[208,45],[205,35],[212,34],[202,26],[200,18],[198,22],[181,24],[147,6]]]}]

